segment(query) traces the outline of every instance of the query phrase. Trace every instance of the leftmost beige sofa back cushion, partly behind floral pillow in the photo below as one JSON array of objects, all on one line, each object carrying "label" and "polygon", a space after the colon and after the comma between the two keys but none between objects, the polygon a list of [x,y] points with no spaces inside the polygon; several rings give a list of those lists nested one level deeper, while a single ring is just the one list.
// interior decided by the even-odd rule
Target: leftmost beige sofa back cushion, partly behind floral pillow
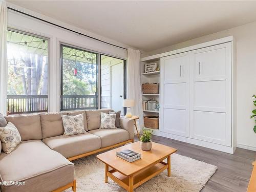
[{"label": "leftmost beige sofa back cushion, partly behind floral pillow", "polygon": [[6,116],[7,122],[12,122],[18,129],[22,141],[42,139],[40,115]]}]

